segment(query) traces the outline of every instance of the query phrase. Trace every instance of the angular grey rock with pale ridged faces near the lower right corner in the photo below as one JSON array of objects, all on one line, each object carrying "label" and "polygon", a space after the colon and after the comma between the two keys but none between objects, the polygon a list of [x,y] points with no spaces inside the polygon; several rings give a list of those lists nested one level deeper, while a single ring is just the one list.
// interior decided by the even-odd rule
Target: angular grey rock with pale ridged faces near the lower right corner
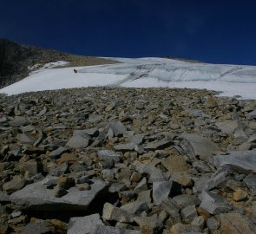
[{"label": "angular grey rock with pale ridged faces near the lower right corner", "polygon": [[200,207],[207,210],[210,214],[220,214],[230,211],[231,207],[227,202],[217,193],[203,191],[200,194]]}]

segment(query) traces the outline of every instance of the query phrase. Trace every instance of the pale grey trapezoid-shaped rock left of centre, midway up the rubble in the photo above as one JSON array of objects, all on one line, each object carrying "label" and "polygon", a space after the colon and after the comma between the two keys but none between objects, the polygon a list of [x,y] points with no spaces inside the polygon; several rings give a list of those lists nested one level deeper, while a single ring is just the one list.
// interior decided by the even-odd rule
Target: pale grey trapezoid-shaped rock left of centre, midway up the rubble
[{"label": "pale grey trapezoid-shaped rock left of centre, midway up the rubble", "polygon": [[83,130],[75,130],[66,146],[69,146],[70,148],[85,148],[91,143],[92,139],[89,134],[85,133]]}]

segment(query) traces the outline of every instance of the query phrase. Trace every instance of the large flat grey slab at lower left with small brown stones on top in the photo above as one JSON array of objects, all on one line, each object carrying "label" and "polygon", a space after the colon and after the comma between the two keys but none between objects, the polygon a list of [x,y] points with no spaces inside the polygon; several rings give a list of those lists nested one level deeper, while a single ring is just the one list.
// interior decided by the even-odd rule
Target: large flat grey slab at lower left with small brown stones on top
[{"label": "large flat grey slab at lower left with small brown stones on top", "polygon": [[62,198],[55,198],[54,191],[47,189],[42,182],[36,182],[25,186],[20,191],[12,193],[10,200],[15,205],[21,205],[32,210],[85,211],[95,196],[108,185],[102,180],[92,179],[91,182],[91,189],[89,191],[79,191],[77,188],[71,187]]}]

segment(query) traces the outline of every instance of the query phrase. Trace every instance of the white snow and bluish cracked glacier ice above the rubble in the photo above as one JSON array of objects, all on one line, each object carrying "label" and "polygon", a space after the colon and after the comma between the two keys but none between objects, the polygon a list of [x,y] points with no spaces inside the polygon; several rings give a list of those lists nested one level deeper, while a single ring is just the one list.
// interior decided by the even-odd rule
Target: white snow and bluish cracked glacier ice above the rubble
[{"label": "white snow and bluish cracked glacier ice above the rubble", "polygon": [[92,86],[131,88],[207,88],[222,96],[256,99],[256,66],[181,62],[161,58],[110,58],[123,63],[75,68],[43,68],[0,89],[20,94]]}]

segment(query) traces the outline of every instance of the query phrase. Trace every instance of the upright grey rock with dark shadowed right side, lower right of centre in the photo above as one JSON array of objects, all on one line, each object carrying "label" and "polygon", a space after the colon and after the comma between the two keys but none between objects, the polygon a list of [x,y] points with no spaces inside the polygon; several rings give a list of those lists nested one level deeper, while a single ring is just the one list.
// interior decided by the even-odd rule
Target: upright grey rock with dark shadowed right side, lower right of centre
[{"label": "upright grey rock with dark shadowed right side, lower right of centre", "polygon": [[161,181],[153,183],[154,205],[161,205],[161,202],[170,195],[173,181]]}]

